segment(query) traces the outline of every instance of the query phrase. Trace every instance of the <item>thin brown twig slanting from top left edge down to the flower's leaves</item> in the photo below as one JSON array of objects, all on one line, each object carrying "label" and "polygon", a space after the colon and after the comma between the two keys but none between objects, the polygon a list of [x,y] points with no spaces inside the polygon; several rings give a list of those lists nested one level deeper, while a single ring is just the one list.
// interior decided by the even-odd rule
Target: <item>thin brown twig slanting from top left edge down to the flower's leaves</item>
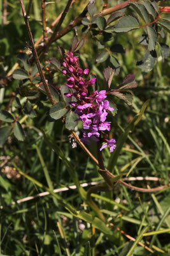
[{"label": "thin brown twig slanting from top left edge down to the flower's leaves", "polygon": [[27,31],[28,31],[28,34],[29,34],[29,39],[31,41],[32,54],[35,58],[36,65],[37,65],[38,71],[39,71],[39,75],[41,76],[43,85],[45,86],[46,94],[48,95],[48,98],[52,102],[52,105],[54,105],[55,100],[53,99],[52,94],[50,93],[50,89],[48,88],[48,85],[47,85],[46,80],[45,80],[45,76],[43,74],[43,70],[42,70],[41,65],[39,63],[38,54],[37,54],[36,48],[34,46],[34,39],[33,39],[32,33],[31,33],[31,28],[29,26],[29,19],[27,17],[27,13],[25,12],[25,6],[24,6],[23,0],[20,0],[20,6],[22,8],[22,13],[23,13],[23,17],[24,17],[24,20],[25,20],[25,25],[27,27]]}]

